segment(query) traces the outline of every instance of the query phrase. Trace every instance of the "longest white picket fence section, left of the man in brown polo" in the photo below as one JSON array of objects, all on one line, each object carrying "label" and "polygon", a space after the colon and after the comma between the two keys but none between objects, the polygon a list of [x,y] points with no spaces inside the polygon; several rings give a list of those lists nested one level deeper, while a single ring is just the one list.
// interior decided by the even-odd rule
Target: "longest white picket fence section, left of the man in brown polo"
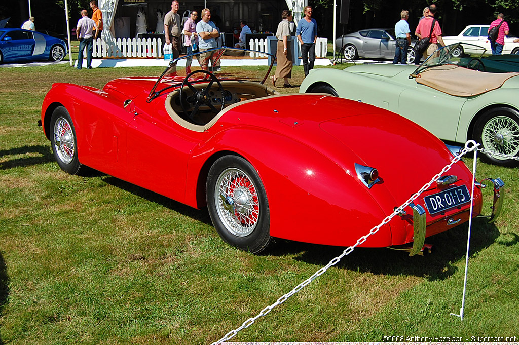
[{"label": "longest white picket fence section, left of the man in brown polo", "polygon": [[160,58],[162,42],[160,38],[113,38],[111,44],[101,38],[94,39],[93,58]]}]

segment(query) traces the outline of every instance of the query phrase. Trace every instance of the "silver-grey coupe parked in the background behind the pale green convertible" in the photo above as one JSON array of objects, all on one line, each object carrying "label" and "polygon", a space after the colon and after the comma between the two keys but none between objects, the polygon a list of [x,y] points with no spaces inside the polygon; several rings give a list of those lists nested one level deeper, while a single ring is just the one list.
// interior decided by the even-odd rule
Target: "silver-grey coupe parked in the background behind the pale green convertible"
[{"label": "silver-grey coupe parked in the background behind the pale green convertible", "polygon": [[[335,39],[337,51],[349,60],[358,58],[394,58],[397,44],[393,29],[365,29],[352,32]],[[416,39],[411,38],[411,46],[407,48],[407,63],[412,64],[416,59],[414,46]]]}]

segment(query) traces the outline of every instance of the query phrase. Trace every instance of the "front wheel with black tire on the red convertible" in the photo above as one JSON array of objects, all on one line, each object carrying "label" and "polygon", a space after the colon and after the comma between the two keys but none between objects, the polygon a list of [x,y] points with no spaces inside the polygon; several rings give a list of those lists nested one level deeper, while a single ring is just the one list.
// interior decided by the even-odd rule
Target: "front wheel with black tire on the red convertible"
[{"label": "front wheel with black tire on the red convertible", "polygon": [[50,118],[49,131],[54,159],[61,170],[71,175],[77,175],[83,170],[83,165],[77,158],[77,137],[74,123],[65,107],[59,106],[54,109]]}]

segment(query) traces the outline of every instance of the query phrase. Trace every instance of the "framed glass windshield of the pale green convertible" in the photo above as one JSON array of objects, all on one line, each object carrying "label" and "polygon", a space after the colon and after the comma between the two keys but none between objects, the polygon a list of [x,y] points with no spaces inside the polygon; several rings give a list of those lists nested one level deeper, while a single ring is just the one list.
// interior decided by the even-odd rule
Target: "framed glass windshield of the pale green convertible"
[{"label": "framed glass windshield of the pale green convertible", "polygon": [[[463,51],[471,51],[469,54],[458,54],[460,46],[463,47]],[[436,49],[416,70],[409,75],[409,78],[416,77],[420,72],[427,70],[427,68],[442,66],[442,65],[459,65],[463,67],[470,67],[471,62],[474,59],[481,59],[486,49],[473,44],[461,42],[450,44]],[[454,57],[457,55],[459,57]]]}]

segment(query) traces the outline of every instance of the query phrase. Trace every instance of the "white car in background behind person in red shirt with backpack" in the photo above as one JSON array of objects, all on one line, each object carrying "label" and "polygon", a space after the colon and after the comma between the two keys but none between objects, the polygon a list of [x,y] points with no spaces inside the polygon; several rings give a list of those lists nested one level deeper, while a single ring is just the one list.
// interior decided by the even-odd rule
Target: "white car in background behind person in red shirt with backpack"
[{"label": "white car in background behind person in red shirt with backpack", "polygon": [[[458,36],[443,36],[443,42],[446,45],[461,42],[461,46],[453,51],[452,56],[455,58],[461,57],[463,54],[479,54],[477,49],[473,46],[465,45],[470,43],[486,49],[485,55],[492,54],[490,49],[490,41],[488,40],[488,29],[490,25],[469,25],[461,31]],[[514,43],[514,38],[505,37],[503,54],[519,54],[519,43]]]}]

